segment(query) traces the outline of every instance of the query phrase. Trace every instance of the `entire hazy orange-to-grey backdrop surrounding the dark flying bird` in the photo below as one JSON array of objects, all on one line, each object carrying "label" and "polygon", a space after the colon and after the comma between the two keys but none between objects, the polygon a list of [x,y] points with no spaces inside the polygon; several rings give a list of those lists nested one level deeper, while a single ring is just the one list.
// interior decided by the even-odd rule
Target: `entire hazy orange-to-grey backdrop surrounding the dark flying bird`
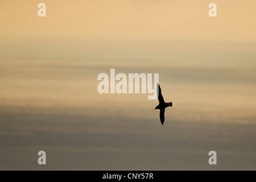
[{"label": "entire hazy orange-to-grey backdrop surrounding the dark flying bird", "polygon": [[[0,2],[0,169],[256,169],[255,1],[40,2]],[[163,126],[110,68],[159,73]]]}]

